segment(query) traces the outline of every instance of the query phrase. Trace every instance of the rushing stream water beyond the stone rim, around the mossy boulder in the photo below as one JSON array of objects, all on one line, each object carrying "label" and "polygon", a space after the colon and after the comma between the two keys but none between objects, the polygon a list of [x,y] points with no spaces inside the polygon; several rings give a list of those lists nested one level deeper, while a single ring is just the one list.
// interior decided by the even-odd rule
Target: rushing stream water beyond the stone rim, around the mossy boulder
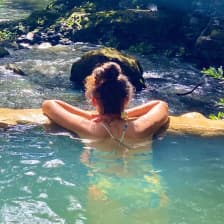
[{"label": "rushing stream water beyond the stone rim, around the mossy boulder", "polygon": [[[0,21],[24,17],[34,8],[44,7],[46,2],[1,1]],[[73,87],[69,75],[74,61],[85,52],[99,47],[103,46],[74,43],[67,46],[41,44],[27,49],[7,49],[10,56],[0,58],[0,107],[38,108],[44,99],[58,98],[89,108],[83,91]],[[223,86],[217,80],[203,76],[195,65],[163,55],[124,53],[140,61],[147,85],[146,89],[136,93],[131,105],[162,99],[168,102],[171,114],[197,111],[208,116],[218,111],[215,103],[224,95]],[[8,64],[16,65],[25,75],[15,74],[8,69]],[[193,93],[177,95],[193,89],[200,82],[203,84]]]}]

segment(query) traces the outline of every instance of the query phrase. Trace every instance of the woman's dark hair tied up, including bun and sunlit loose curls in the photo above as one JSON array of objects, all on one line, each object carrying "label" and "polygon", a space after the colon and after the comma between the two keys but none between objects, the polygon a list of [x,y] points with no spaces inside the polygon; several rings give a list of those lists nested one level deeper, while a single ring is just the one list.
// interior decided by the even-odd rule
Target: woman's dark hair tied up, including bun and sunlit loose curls
[{"label": "woman's dark hair tied up, including bun and sunlit loose curls", "polygon": [[85,79],[87,100],[95,97],[101,106],[101,114],[120,114],[125,100],[133,95],[133,86],[123,74],[119,64],[106,62],[96,67]]}]

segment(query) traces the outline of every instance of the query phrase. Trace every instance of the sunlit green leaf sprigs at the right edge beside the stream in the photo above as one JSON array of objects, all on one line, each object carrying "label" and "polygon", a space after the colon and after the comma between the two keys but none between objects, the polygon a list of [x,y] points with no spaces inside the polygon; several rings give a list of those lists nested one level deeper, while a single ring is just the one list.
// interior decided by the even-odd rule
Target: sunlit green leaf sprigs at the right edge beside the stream
[{"label": "sunlit green leaf sprigs at the right edge beside the stream", "polygon": [[[220,66],[217,69],[214,68],[214,67],[210,67],[208,69],[203,69],[202,73],[204,75],[211,76],[211,77],[213,77],[215,79],[221,79],[221,80],[224,79],[224,76],[223,76],[224,70],[223,70],[222,66]],[[219,101],[217,103],[217,106],[220,109],[224,109],[224,98],[219,99]],[[210,114],[209,118],[212,119],[212,120],[224,120],[224,112],[220,111],[216,115],[215,114]]]}]

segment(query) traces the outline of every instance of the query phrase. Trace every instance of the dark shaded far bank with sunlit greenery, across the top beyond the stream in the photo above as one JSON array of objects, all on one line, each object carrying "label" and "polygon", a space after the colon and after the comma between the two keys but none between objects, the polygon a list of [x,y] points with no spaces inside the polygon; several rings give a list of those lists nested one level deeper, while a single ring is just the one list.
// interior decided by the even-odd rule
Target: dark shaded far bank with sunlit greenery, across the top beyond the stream
[{"label": "dark shaded far bank with sunlit greenery, across the top beyond the stream", "polygon": [[[198,60],[202,66],[217,66],[223,59],[219,52],[224,46],[220,40],[224,31],[213,27],[210,16],[200,10],[216,12],[221,0],[203,2],[203,7],[197,6],[199,1],[51,0],[45,9],[34,11],[17,25],[2,29],[0,24],[0,28],[12,34],[4,35],[4,40],[33,32],[37,42],[46,42],[49,39],[45,34],[54,33],[71,41],[93,42],[146,55],[162,52]],[[58,43],[52,39],[53,44]]]}]

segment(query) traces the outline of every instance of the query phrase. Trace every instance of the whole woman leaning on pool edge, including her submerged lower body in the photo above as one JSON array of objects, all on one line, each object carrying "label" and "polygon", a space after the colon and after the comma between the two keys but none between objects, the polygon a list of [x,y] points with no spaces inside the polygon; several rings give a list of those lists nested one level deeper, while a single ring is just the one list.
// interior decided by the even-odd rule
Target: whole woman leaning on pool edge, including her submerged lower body
[{"label": "whole woman leaning on pool edge, including her submerged lower body", "polygon": [[[85,147],[81,154],[89,178],[87,222],[151,223],[159,217],[165,223],[167,197],[159,175],[151,172],[153,169],[145,154],[140,154],[143,156],[140,162],[129,155],[149,149],[142,140],[147,137],[150,141],[149,136],[167,122],[167,104],[157,100],[126,109],[133,86],[114,62],[95,68],[86,78],[85,88],[94,112],[59,100],[45,101],[42,109],[60,126],[81,137],[94,138],[87,142],[91,147]],[[141,141],[139,146],[137,139]],[[101,154],[100,150],[91,150],[94,148],[112,153]]]}]

